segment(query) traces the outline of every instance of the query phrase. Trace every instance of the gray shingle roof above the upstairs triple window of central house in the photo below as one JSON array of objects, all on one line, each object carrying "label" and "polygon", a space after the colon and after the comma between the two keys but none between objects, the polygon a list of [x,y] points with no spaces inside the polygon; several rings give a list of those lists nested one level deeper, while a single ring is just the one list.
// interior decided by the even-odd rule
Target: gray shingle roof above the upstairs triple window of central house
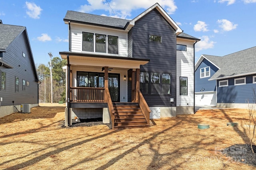
[{"label": "gray shingle roof above the upstairs triple window of central house", "polygon": [[90,25],[99,25],[113,27],[117,29],[124,29],[130,20],[98,16],[94,14],[86,14],[75,11],[67,11],[64,21],[73,21],[78,23],[86,23]]}]

